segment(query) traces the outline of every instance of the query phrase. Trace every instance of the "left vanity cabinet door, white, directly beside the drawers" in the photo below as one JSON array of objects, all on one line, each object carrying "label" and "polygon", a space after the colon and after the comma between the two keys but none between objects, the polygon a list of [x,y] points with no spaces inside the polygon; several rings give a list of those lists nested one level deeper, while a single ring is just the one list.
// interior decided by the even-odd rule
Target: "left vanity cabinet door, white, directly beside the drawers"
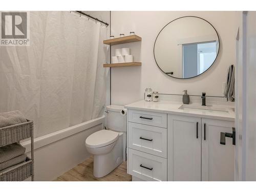
[{"label": "left vanity cabinet door, white, directly beside the drawers", "polygon": [[168,181],[201,181],[201,118],[168,114]]}]

